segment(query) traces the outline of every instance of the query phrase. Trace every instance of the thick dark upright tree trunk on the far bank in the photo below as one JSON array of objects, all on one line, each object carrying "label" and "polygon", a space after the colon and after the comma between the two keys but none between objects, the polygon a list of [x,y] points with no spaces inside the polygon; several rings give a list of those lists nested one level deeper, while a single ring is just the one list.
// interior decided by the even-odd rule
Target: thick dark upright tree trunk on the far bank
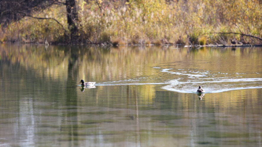
[{"label": "thick dark upright tree trunk on the far bank", "polygon": [[75,5],[75,0],[66,0],[67,7],[67,24],[70,30],[70,40],[71,42],[77,41],[77,7]]}]

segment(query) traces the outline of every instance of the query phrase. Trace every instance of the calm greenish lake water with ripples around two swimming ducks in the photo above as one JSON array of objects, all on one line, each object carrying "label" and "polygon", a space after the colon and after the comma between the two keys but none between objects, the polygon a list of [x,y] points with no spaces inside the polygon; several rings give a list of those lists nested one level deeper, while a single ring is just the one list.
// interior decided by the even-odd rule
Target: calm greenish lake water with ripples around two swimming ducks
[{"label": "calm greenish lake water with ripples around two swimming ducks", "polygon": [[[94,87],[78,83],[96,81]],[[205,95],[198,96],[198,86]],[[0,146],[262,146],[262,48],[0,44]]]}]

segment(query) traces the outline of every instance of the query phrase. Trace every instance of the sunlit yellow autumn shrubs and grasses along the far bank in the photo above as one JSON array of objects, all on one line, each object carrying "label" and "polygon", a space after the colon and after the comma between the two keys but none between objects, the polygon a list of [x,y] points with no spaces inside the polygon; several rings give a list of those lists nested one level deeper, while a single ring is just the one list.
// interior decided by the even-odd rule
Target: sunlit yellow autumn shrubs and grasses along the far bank
[{"label": "sunlit yellow autumn shrubs and grasses along the far bank", "polygon": [[[261,40],[236,32],[262,36],[262,3],[259,0],[130,0],[76,1],[77,42],[86,44],[261,44]],[[101,8],[101,9],[100,9]],[[70,43],[66,7],[53,5],[1,25],[0,41]],[[61,25],[59,25],[56,19]],[[71,42],[72,43],[72,42]]]}]

